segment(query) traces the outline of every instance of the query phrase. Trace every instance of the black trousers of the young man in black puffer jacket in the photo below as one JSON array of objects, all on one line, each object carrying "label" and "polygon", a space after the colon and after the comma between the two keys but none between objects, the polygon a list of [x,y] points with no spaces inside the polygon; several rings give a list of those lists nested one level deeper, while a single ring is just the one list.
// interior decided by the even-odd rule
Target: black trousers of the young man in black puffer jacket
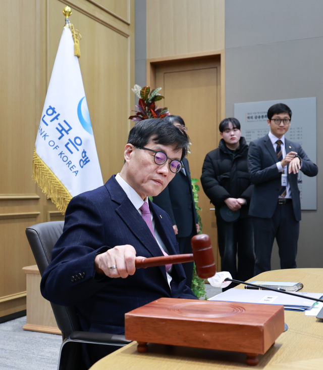
[{"label": "black trousers of the young man in black puffer jacket", "polygon": [[[239,218],[234,222],[226,222],[217,217],[217,225],[221,270],[229,271],[232,279],[251,279],[255,260],[251,217]],[[228,287],[230,288],[233,288],[233,283]]]}]

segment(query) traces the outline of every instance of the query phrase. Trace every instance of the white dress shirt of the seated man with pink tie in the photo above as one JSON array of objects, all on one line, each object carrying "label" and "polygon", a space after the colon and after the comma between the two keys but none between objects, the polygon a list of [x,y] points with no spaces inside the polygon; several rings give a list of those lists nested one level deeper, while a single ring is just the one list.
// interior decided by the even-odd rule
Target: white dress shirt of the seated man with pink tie
[{"label": "white dress shirt of the seated man with pink tie", "polygon": [[[119,185],[124,190],[124,192],[127,194],[127,197],[129,198],[130,202],[135,206],[135,208],[139,212],[140,216],[142,216],[142,212],[140,211],[139,208],[143,205],[144,202],[148,203],[148,197],[143,201],[142,198],[140,197],[140,195],[128,184],[128,182],[126,182],[120,176],[120,173],[118,173],[116,175],[116,180],[118,181]],[[153,219],[153,214],[152,214],[151,211],[150,211],[150,218],[151,218],[151,223],[152,223],[152,227],[153,227],[153,232],[155,234],[156,242],[157,242],[159,248],[162,251],[169,254],[167,248],[165,247],[165,244],[164,244],[163,240],[161,240],[161,238],[160,238],[160,236],[157,232],[157,229],[155,228],[155,220]],[[168,272],[166,272],[169,286],[171,286],[171,281],[172,281],[172,276],[171,276],[172,269],[173,269],[173,266],[168,270]]]}]

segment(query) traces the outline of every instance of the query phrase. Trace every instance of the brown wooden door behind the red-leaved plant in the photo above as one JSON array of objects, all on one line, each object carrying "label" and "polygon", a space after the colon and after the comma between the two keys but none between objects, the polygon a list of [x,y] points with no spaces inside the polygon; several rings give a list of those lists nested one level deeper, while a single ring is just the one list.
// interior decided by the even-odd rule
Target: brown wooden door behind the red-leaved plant
[{"label": "brown wooden door behind the red-leaved plant", "polygon": [[192,178],[199,180],[202,231],[211,238],[217,268],[220,270],[216,216],[210,210],[213,205],[204,194],[200,182],[205,155],[217,148],[220,140],[220,57],[154,64],[151,82],[155,84],[152,87],[163,87],[160,92],[165,96],[165,101],[161,100],[159,106],[166,106],[171,114],[181,116],[188,128],[192,145],[187,158]]}]

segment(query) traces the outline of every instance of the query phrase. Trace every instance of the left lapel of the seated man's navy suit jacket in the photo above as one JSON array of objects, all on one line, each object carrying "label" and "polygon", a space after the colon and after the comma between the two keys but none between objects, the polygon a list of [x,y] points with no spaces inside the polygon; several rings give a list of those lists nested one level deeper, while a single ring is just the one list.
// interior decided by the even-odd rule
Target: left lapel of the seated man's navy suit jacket
[{"label": "left lapel of the seated man's navy suit jacket", "polygon": [[152,236],[146,222],[140,216],[114,176],[105,183],[105,187],[109,191],[111,199],[120,204],[116,212],[129,227],[130,231],[140,240],[153,257],[162,256],[163,253]]}]

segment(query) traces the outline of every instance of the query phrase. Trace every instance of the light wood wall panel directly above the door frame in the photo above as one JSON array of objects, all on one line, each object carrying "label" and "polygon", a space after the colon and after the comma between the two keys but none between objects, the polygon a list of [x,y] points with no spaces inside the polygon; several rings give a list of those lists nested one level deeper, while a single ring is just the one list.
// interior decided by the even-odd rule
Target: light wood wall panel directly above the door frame
[{"label": "light wood wall panel directly above the door frame", "polygon": [[147,0],[147,58],[225,48],[225,0]]}]

